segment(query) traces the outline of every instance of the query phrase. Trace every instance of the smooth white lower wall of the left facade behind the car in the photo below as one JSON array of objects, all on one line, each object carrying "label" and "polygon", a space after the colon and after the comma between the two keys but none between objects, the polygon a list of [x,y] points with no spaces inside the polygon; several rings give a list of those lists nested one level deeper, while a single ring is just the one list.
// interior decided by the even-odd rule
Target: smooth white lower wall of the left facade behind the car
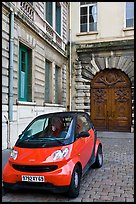
[{"label": "smooth white lower wall of the left facade behind the car", "polygon": [[[7,107],[3,106],[2,111],[2,150],[7,149],[7,137],[8,137],[8,124],[4,115],[8,115]],[[61,106],[48,106],[48,107],[36,107],[36,106],[13,106],[13,122],[10,124],[10,147],[13,147],[19,134],[22,133],[24,128],[38,115],[65,111],[66,109]],[[8,117],[7,117],[8,118]]]}]

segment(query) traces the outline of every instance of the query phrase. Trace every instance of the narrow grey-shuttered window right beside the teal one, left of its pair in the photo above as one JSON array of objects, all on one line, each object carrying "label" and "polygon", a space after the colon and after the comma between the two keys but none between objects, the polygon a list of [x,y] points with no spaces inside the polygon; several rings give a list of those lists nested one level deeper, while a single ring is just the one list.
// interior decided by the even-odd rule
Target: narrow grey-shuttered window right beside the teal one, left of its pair
[{"label": "narrow grey-shuttered window right beside the teal one, left of its pair", "polygon": [[51,70],[51,62],[48,60],[45,61],[45,102],[51,102],[51,90],[52,90],[52,70]]}]

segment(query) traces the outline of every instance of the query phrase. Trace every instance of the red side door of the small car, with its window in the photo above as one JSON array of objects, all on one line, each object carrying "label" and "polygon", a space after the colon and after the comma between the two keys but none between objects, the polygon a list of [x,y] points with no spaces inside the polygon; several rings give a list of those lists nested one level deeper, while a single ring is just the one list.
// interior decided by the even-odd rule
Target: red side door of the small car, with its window
[{"label": "red side door of the small car, with its window", "polygon": [[93,135],[93,130],[91,129],[91,124],[84,114],[78,115],[77,122],[78,120],[81,120],[83,122],[82,131],[89,132],[90,134],[90,136],[88,137],[78,138],[78,130],[76,130],[77,138],[78,138],[78,153],[80,155],[82,166],[84,167],[92,155],[92,151],[94,147],[94,135]]}]

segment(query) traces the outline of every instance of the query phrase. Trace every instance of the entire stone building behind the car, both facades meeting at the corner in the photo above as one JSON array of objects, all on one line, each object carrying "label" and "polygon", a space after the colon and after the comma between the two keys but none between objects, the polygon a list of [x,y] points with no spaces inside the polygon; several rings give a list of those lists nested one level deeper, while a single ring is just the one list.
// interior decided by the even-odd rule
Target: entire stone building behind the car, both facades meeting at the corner
[{"label": "entire stone building behind the car, both facades meeting at the corner", "polygon": [[2,149],[64,110],[134,131],[134,2],[2,2]]}]

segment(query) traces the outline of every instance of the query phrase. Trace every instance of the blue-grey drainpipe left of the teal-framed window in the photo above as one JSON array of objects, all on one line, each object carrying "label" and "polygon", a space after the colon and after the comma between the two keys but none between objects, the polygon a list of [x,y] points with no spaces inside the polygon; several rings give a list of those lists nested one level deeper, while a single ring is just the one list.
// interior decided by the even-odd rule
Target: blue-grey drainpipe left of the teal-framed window
[{"label": "blue-grey drainpipe left of the teal-framed window", "polygon": [[14,57],[14,12],[10,13],[10,41],[9,41],[9,135],[8,148],[10,148],[11,125],[13,121],[13,60]]}]

